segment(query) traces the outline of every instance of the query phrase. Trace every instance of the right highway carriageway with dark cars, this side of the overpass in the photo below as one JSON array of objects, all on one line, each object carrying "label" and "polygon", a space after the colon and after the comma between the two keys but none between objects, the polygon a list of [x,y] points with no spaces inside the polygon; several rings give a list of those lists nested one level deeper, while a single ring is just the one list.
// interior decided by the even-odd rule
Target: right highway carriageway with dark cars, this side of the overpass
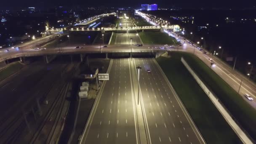
[{"label": "right highway carriageway with dark cars, this side of the overpass", "polygon": [[[200,144],[198,136],[153,59],[135,59],[152,144]],[[147,70],[151,72],[147,72]],[[137,97],[137,96],[136,96]]]}]

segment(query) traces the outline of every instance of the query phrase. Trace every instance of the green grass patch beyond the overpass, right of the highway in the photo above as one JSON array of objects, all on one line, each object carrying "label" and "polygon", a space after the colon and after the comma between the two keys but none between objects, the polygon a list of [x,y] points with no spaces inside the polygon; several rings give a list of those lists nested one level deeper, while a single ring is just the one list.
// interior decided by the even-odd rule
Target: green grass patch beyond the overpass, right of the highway
[{"label": "green grass patch beyond the overpass, right of the highway", "polygon": [[177,41],[168,34],[159,31],[139,32],[139,36],[144,44],[168,44],[174,45]]}]

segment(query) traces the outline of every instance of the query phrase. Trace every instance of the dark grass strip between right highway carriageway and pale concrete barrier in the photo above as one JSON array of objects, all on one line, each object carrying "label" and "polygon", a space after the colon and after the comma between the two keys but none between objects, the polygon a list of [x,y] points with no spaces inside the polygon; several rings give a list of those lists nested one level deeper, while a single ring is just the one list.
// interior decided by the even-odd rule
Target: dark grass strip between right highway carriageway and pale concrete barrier
[{"label": "dark grass strip between right highway carriageway and pale concrete barrier", "polygon": [[157,62],[172,83],[205,141],[208,144],[242,143],[200,85],[181,63],[183,54],[173,52],[170,58],[161,56],[157,58]]}]

